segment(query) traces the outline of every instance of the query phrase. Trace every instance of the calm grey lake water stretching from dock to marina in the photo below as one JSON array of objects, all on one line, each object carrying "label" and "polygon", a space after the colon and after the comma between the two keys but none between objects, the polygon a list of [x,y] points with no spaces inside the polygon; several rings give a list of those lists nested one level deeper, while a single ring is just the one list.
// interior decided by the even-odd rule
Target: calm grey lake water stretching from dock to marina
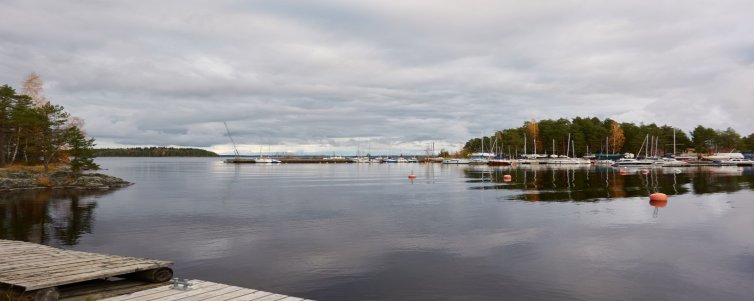
[{"label": "calm grey lake water stretching from dock to marina", "polygon": [[97,163],[136,184],[0,193],[0,238],[320,301],[754,298],[751,167]]}]

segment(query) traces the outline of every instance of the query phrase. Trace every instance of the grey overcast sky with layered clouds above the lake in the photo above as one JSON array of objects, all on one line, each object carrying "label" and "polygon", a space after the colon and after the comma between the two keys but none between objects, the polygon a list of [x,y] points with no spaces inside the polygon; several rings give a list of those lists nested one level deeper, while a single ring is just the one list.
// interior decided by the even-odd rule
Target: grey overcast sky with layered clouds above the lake
[{"label": "grey overcast sky with layered clouds above the lake", "polygon": [[36,71],[100,147],[230,154],[223,122],[250,154],[260,141],[351,154],[370,137],[393,154],[456,149],[530,118],[754,132],[750,0],[5,0],[0,11],[0,84]]}]

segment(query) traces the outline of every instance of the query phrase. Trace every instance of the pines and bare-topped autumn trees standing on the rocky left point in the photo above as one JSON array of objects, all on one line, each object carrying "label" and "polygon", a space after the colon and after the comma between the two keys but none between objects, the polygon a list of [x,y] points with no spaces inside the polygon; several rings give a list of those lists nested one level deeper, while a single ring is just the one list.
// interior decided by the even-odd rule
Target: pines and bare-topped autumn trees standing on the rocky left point
[{"label": "pines and bare-topped autumn trees standing on the rocky left point", "polygon": [[20,93],[0,87],[0,167],[44,165],[69,161],[75,171],[97,169],[94,139],[86,138],[84,120],[53,105],[42,95],[44,82],[35,72],[24,78]]}]

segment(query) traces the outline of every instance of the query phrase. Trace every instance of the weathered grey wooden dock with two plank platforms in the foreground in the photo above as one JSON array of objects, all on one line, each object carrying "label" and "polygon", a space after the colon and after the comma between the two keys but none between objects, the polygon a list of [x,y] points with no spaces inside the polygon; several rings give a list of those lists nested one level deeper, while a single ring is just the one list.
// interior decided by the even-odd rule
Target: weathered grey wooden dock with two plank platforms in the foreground
[{"label": "weathered grey wooden dock with two plank platforms in the foreground", "polygon": [[[278,293],[193,280],[171,288],[173,262],[69,251],[0,239],[0,301],[302,301]],[[109,281],[115,276],[122,280]],[[311,300],[309,300],[311,301]]]}]

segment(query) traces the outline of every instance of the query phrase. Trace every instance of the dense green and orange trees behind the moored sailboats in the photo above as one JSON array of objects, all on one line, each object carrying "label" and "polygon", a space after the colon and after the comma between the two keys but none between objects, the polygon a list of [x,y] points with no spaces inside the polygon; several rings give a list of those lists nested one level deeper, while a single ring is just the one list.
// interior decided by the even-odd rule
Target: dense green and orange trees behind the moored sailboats
[{"label": "dense green and orange trees behind the moored sailboats", "polygon": [[[570,140],[573,141],[569,147]],[[658,126],[655,123],[618,123],[615,120],[597,117],[559,118],[557,120],[530,120],[513,129],[496,131],[491,136],[472,138],[464,144],[458,156],[479,152],[502,154],[524,154],[524,146],[529,154],[645,154],[647,144],[657,148],[661,156],[673,153],[675,135],[676,154],[687,149],[695,153],[709,154],[716,150],[737,150],[751,153],[754,149],[754,133],[742,136],[734,129],[712,129],[697,126],[686,133],[673,126]],[[526,136],[526,144],[525,144]],[[649,139],[647,139],[649,136]],[[535,150],[536,141],[536,150]],[[482,144],[484,143],[484,147]],[[553,145],[554,144],[554,145]],[[606,146],[606,147],[605,147]]]}]

